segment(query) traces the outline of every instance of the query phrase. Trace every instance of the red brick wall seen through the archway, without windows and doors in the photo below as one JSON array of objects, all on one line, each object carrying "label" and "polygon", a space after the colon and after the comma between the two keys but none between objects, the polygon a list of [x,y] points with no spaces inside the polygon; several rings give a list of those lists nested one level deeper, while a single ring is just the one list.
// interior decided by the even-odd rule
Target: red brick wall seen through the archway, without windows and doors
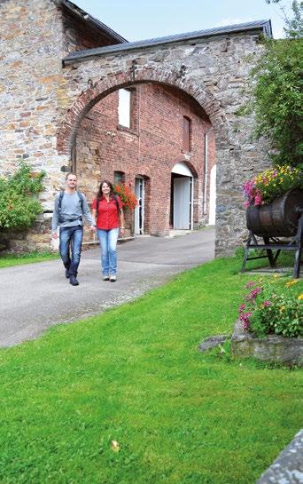
[{"label": "red brick wall seen through the archway, without windows and doors", "polygon": [[[91,200],[101,179],[113,180],[123,171],[134,187],[136,175],[146,180],[145,232],[167,234],[169,229],[171,171],[186,162],[194,176],[194,224],[203,220],[204,133],[208,118],[194,100],[160,84],[136,86],[133,129],[118,120],[118,92],[107,96],[83,119],[77,135],[77,175]],[[191,120],[190,153],[183,153],[183,116]],[[214,138],[209,132],[209,173],[214,165]],[[209,183],[208,183],[209,187]]]}]

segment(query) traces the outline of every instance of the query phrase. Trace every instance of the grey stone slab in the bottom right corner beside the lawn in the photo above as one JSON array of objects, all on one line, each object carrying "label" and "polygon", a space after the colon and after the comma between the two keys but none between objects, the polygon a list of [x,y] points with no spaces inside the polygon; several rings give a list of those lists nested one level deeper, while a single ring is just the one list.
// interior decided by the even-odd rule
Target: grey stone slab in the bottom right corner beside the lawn
[{"label": "grey stone slab in the bottom right corner beside the lawn", "polygon": [[268,467],[256,484],[303,483],[303,429],[284,448],[275,462]]}]

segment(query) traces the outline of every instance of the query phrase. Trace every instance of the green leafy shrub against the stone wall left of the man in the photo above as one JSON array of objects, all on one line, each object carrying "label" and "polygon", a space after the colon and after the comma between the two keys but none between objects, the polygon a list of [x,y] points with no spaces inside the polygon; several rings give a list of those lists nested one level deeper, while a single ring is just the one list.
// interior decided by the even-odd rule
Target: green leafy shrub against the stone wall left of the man
[{"label": "green leafy shrub against the stone wall left of the man", "polygon": [[44,172],[34,173],[27,163],[0,178],[0,230],[28,228],[42,211],[36,195],[43,191]]}]

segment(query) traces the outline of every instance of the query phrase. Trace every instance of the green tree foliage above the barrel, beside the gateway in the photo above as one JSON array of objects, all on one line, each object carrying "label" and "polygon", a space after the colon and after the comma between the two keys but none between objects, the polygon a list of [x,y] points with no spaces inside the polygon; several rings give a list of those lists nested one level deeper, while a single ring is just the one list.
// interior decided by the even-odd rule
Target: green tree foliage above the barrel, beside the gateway
[{"label": "green tree foliage above the barrel, beside the gateway", "polygon": [[256,135],[268,137],[274,163],[294,166],[303,163],[302,9],[303,2],[292,3],[286,38],[264,39],[265,52],[252,73]]}]

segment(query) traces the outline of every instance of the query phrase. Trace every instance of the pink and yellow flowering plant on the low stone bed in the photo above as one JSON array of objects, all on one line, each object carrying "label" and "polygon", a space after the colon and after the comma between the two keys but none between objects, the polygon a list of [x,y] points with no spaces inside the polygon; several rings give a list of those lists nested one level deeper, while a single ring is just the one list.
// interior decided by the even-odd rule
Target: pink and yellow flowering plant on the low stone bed
[{"label": "pink and yellow flowering plant on the low stone bed", "polygon": [[303,336],[303,293],[297,284],[298,279],[294,279],[281,286],[276,277],[267,283],[248,282],[238,309],[245,331],[257,337]]}]

